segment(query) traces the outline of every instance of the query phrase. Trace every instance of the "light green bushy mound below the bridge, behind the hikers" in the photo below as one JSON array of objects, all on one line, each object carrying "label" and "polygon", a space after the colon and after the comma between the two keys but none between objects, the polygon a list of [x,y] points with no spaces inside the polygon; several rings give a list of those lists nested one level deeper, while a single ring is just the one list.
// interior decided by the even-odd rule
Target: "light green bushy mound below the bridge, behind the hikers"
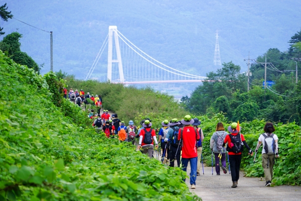
[{"label": "light green bushy mound below the bridge, behind the hikers", "polygon": [[117,113],[118,118],[125,122],[134,120],[138,114],[142,114],[142,116],[156,114],[166,118],[182,118],[186,114],[173,96],[154,91],[150,87],[137,89],[109,82],[77,80],[73,76],[67,76],[66,80],[68,87],[74,90],[82,88],[85,92],[90,92],[91,95],[100,95],[103,108]]}]

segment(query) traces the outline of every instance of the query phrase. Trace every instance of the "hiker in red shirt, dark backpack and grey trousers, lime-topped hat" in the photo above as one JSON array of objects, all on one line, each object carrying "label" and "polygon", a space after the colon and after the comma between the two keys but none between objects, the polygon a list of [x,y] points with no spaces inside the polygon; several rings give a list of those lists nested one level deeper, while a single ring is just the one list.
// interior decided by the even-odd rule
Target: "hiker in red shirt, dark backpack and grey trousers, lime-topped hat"
[{"label": "hiker in red shirt, dark backpack and grey trousers, lime-topped hat", "polygon": [[152,123],[150,123],[149,120],[145,120],[142,126],[143,129],[141,129],[139,134],[139,145],[137,148],[141,148],[143,154],[148,154],[148,157],[152,158],[154,152],[154,141],[156,143],[156,148],[158,149],[159,147],[156,132],[152,129]]}]

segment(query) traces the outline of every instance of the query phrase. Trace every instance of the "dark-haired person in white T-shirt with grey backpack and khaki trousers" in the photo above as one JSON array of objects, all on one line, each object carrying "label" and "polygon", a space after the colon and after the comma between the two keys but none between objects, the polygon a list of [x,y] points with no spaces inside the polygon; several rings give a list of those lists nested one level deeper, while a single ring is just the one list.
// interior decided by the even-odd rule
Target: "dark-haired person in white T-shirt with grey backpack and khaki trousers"
[{"label": "dark-haired person in white T-shirt with grey backpack and khaki trousers", "polygon": [[269,186],[271,184],[271,180],[273,179],[273,166],[275,164],[275,155],[276,158],[278,155],[278,137],[273,134],[275,128],[272,123],[267,122],[264,126],[264,134],[261,134],[258,138],[258,144],[255,149],[257,153],[260,145],[262,144],[262,167],[265,175],[265,186]]}]

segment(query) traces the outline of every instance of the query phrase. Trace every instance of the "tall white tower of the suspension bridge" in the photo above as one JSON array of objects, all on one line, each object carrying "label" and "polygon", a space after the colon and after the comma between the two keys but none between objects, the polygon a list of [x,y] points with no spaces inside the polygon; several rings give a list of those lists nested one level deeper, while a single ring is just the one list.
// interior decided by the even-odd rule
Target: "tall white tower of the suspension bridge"
[{"label": "tall white tower of the suspension bridge", "polygon": [[[116,54],[117,59],[112,58],[113,54],[113,36],[115,40],[115,48],[116,48]],[[108,73],[107,73],[107,79],[109,81],[112,80],[112,63],[118,63],[118,69],[119,69],[119,78],[120,82],[124,82],[124,75],[123,75],[123,68],[122,68],[122,61],[121,61],[121,53],[120,53],[120,46],[119,46],[119,40],[118,40],[118,32],[117,32],[117,26],[109,26],[109,36],[108,36]]]}]

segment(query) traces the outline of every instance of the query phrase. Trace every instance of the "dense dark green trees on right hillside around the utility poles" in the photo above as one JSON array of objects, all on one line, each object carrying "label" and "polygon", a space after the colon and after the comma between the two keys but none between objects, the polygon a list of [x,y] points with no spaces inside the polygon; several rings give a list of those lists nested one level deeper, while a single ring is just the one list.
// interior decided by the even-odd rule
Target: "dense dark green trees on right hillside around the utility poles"
[{"label": "dense dark green trees on right hillside around the utility poles", "polygon": [[[273,122],[301,123],[301,84],[295,84],[295,65],[291,57],[301,57],[301,31],[289,40],[288,51],[280,52],[276,48],[269,49],[265,55],[267,62],[267,81],[274,81],[272,87],[262,87],[264,80],[264,65],[254,63],[250,67],[250,90],[247,92],[247,76],[240,74],[240,66],[232,62],[224,63],[217,72],[207,74],[208,78],[198,86],[191,97],[182,97],[182,106],[195,114],[219,112],[231,121],[252,121],[265,119]],[[258,62],[265,61],[265,55],[257,58]],[[300,70],[300,62],[298,62]],[[291,70],[286,73],[279,72]],[[301,76],[298,76],[298,79]]]}]

